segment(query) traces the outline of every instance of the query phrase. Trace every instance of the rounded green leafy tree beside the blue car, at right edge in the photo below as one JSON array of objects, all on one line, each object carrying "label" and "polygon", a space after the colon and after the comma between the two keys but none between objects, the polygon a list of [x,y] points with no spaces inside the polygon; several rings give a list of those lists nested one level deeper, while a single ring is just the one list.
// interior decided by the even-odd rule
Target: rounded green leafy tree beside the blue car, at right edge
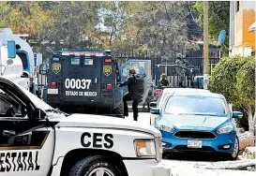
[{"label": "rounded green leafy tree beside the blue car, at right edge", "polygon": [[248,115],[249,130],[255,125],[255,61],[252,57],[223,57],[213,68],[211,92],[224,95],[233,108]]}]

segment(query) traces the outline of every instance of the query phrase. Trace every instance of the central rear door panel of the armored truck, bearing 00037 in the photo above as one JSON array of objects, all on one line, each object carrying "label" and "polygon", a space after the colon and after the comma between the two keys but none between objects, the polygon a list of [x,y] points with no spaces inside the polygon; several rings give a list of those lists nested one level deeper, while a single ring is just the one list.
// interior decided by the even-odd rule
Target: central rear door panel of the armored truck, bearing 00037
[{"label": "central rear door panel of the armored truck, bearing 00037", "polygon": [[[86,56],[85,56],[86,55]],[[63,63],[64,101],[98,102],[100,98],[101,54],[65,56]]]}]

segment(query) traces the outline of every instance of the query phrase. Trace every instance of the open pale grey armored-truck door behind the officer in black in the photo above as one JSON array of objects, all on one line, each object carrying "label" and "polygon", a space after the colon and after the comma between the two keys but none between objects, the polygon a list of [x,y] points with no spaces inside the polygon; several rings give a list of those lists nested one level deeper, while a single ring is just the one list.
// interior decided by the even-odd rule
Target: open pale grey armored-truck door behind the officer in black
[{"label": "open pale grey armored-truck door behind the officer in black", "polygon": [[[143,77],[144,81],[144,93],[143,93],[143,101],[142,104],[145,102],[145,99],[148,95],[150,90],[151,81],[152,81],[152,74],[151,74],[151,60],[128,60],[123,66],[120,66],[120,81],[124,82],[128,79],[128,71],[129,68],[134,68],[136,70],[136,74],[140,74]],[[128,92],[128,87],[124,86],[121,87],[124,94]]]}]

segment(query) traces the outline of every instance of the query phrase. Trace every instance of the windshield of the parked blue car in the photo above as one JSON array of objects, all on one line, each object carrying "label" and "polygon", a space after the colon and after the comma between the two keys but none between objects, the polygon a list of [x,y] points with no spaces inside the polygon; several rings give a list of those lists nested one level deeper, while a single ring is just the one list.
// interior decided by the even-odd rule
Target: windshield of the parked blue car
[{"label": "windshield of the parked blue car", "polygon": [[207,96],[171,96],[165,107],[166,113],[226,116],[223,99]]}]

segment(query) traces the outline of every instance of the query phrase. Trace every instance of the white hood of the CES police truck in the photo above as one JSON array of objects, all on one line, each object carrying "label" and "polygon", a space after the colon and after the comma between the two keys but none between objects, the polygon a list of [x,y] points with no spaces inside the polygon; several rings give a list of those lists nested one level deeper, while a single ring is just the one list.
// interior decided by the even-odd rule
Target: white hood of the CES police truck
[{"label": "white hood of the CES police truck", "polygon": [[57,126],[60,127],[96,127],[132,130],[149,133],[154,137],[161,137],[159,130],[151,125],[142,125],[141,123],[135,121],[129,121],[111,116],[77,113],[68,117],[51,119],[51,121],[59,122]]}]

